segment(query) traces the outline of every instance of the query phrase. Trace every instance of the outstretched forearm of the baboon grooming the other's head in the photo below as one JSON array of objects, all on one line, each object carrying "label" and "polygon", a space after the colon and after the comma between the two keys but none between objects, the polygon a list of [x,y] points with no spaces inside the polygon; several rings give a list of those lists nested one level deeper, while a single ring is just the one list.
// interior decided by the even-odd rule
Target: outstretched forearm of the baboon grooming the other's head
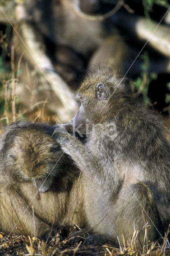
[{"label": "outstretched forearm of the baboon grooming the other's head", "polygon": [[[105,161],[103,161],[102,157],[99,156],[100,152],[97,156],[93,152],[88,152],[87,148],[71,134],[57,132],[56,136],[62,150],[73,158],[82,174],[92,183],[95,182],[97,186],[100,186],[103,191],[107,190],[108,196],[113,196],[114,191],[119,189],[123,177],[115,169],[107,153],[104,151],[103,154],[101,148],[100,152],[105,157]],[[110,162],[109,166],[107,165],[108,162]],[[108,190],[108,187],[110,187],[110,190]]]}]

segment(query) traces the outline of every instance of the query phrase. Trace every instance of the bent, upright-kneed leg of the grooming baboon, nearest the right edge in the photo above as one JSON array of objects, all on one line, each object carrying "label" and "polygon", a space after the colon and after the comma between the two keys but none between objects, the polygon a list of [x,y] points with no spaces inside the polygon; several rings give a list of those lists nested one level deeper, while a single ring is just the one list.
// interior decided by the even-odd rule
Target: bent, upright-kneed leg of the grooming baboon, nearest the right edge
[{"label": "bent, upright-kneed leg of the grooming baboon, nearest the right edge", "polygon": [[146,223],[148,223],[146,240],[154,240],[157,233],[158,216],[153,194],[148,186],[138,182],[122,188],[117,202],[115,202],[114,219],[115,234],[120,240],[123,234],[127,241],[136,229],[139,231],[137,244],[143,244]]}]

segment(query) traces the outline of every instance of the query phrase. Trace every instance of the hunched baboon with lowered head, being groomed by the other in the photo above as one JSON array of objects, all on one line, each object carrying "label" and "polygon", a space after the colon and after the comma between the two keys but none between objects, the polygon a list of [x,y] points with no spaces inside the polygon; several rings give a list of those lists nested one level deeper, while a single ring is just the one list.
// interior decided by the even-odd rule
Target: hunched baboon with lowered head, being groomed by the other
[{"label": "hunched baboon with lowered head, being groomed by the other", "polygon": [[72,219],[84,225],[80,170],[52,134],[51,126],[29,121],[2,129],[0,230],[6,234],[34,236],[32,205],[36,235],[42,238],[50,234],[51,226],[71,226]]}]

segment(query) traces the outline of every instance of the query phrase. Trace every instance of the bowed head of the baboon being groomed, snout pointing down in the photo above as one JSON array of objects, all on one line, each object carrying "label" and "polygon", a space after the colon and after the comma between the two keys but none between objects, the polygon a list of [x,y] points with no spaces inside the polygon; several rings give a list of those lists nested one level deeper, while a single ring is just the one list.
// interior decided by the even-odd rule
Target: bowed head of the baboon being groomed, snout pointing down
[{"label": "bowed head of the baboon being groomed, snout pointing down", "polygon": [[[50,127],[50,126],[49,126]],[[6,170],[16,180],[32,180],[40,192],[49,190],[53,178],[59,175],[57,162],[62,155],[52,132],[24,122],[9,126],[4,143]]]}]

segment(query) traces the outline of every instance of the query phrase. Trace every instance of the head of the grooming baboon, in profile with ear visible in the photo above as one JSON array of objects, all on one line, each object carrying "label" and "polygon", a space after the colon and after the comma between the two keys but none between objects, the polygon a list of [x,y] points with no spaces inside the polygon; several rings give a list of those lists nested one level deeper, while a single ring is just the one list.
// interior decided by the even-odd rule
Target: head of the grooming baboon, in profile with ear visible
[{"label": "head of the grooming baboon, in profile with ear visible", "polygon": [[125,98],[131,95],[130,86],[113,70],[99,67],[89,72],[77,92],[81,106],[77,115],[71,120],[73,126],[85,133],[85,125],[103,123],[112,120],[119,114],[119,108],[125,104]]}]

